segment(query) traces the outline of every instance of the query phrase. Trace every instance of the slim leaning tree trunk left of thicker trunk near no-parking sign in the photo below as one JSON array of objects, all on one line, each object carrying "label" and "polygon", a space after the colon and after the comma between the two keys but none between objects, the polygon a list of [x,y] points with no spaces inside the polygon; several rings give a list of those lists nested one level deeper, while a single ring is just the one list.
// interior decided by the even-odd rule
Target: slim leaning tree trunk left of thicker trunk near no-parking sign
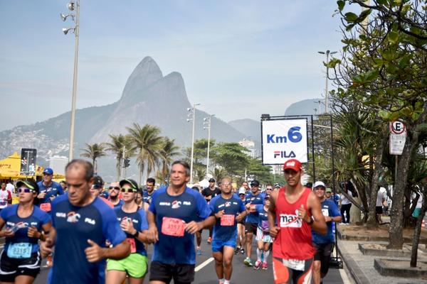
[{"label": "slim leaning tree trunk left of thicker trunk near no-parking sign", "polygon": [[381,173],[382,156],[388,138],[389,137],[387,133],[382,132],[381,141],[379,142],[379,145],[376,147],[375,151],[375,165],[371,181],[371,195],[369,197],[369,216],[367,220],[368,229],[378,228],[378,220],[376,219],[376,197],[378,195],[378,180]]}]

